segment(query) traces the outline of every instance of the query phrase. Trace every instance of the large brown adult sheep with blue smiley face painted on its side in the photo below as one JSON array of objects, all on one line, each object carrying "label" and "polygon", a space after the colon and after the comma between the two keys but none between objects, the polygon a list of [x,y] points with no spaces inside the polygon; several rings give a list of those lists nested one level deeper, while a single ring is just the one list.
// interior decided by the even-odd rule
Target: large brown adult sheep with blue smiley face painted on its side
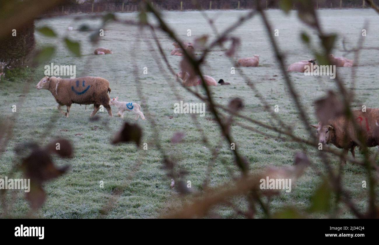
[{"label": "large brown adult sheep with blue smiley face painted on its side", "polygon": [[[90,117],[93,117],[103,105],[108,114],[113,117],[109,105],[108,92],[111,92],[109,81],[101,77],[85,76],[74,79],[63,79],[60,77],[48,77],[39,81],[36,88],[49,90],[58,103],[58,110],[69,117],[71,104],[90,105],[94,104],[94,110]],[[61,106],[66,106],[67,112],[61,110]]]}]

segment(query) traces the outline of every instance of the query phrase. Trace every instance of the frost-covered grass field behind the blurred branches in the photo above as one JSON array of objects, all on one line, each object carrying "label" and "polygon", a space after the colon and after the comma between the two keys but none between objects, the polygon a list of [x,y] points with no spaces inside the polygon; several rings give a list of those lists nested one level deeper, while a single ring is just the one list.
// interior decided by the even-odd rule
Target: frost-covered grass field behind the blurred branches
[{"label": "frost-covered grass field behind the blurred branches", "polygon": [[[227,28],[237,20],[241,14],[247,11],[208,11],[209,16],[217,16],[215,21],[219,31]],[[365,20],[369,20],[365,45],[379,46],[379,27],[376,25],[379,16],[371,9],[347,9],[347,10],[319,10],[319,15],[323,28],[327,32],[338,34],[337,47],[333,51],[334,55],[344,55],[341,40],[346,37],[348,47],[354,47],[362,34]],[[171,27],[177,31],[180,38],[193,42],[193,39],[202,34],[210,34],[214,37],[211,28],[204,17],[197,11],[188,12],[163,12]],[[79,15],[83,16],[83,15]],[[117,14],[121,19],[135,19],[136,13]],[[105,36],[101,37],[97,46],[89,43],[89,33],[80,32],[77,29],[82,23],[87,23],[93,28],[97,28],[98,23],[92,19],[74,20],[75,16],[64,16],[53,19],[36,21],[36,27],[48,25],[60,36],[69,35],[71,39],[81,42],[81,58],[75,58],[61,41],[46,38],[36,33],[37,47],[45,45],[56,45],[57,50],[54,57],[41,64],[33,77],[30,94],[25,98],[25,104],[18,108],[19,115],[14,128],[14,137],[8,144],[7,151],[0,159],[0,176],[5,176],[11,169],[11,159],[13,157],[14,145],[27,140],[36,140],[40,144],[46,144],[53,136],[66,137],[72,140],[75,147],[75,156],[67,161],[71,165],[71,170],[62,177],[49,182],[45,189],[47,191],[47,201],[38,212],[37,217],[44,218],[92,218],[100,215],[100,209],[107,203],[114,190],[122,187],[125,183],[127,187],[119,197],[115,207],[106,216],[108,218],[150,218],[158,217],[160,214],[180,203],[180,198],[175,189],[170,188],[170,179],[161,169],[161,156],[152,143],[153,131],[149,120],[137,123],[143,128],[143,142],[148,143],[148,150],[136,150],[134,144],[123,144],[113,146],[110,139],[122,125],[120,117],[114,117],[108,125],[106,111],[100,113],[100,120],[89,122],[89,115],[93,106],[80,106],[73,104],[70,117],[67,119],[59,115],[54,123],[51,133],[46,138],[42,138],[42,133],[48,126],[50,117],[57,114],[57,104],[47,90],[37,91],[36,84],[44,76],[44,66],[54,62],[58,65],[76,65],[77,77],[90,75],[101,76],[110,81],[112,92],[111,97],[119,97],[121,101],[136,102],[141,105],[142,111],[146,108],[150,110],[157,122],[160,133],[160,143],[168,154],[174,156],[181,169],[187,170],[186,180],[191,181],[192,189],[201,189],[207,172],[208,162],[211,158],[210,151],[201,142],[200,134],[193,125],[189,114],[174,114],[174,103],[179,103],[168,86],[174,81],[170,77],[167,80],[166,73],[157,66],[153,58],[153,53],[157,51],[147,45],[146,40],[152,41],[150,31],[142,35],[136,44],[138,29],[116,23],[106,26]],[[289,16],[284,15],[279,10],[269,10],[268,17],[271,20],[273,29],[279,30],[279,36],[275,37],[279,42],[281,50],[286,55],[287,64],[300,60],[313,58],[310,50],[300,39],[301,31],[306,31],[312,37],[313,42],[317,42],[317,37],[310,28],[300,23],[295,12]],[[67,31],[67,27],[74,27],[74,31]],[[191,29],[191,37],[187,37],[187,30]],[[259,16],[255,16],[241,28],[236,29],[234,36],[241,38],[242,44],[238,51],[239,57],[249,57],[254,54],[260,55],[260,66],[245,67],[243,71],[256,83],[259,91],[268,100],[270,105],[279,105],[279,116],[288,125],[292,125],[298,136],[307,138],[308,135],[302,126],[298,112],[293,106],[284,85],[283,76],[279,70],[278,63],[273,56],[271,44],[268,41],[266,30],[263,28]],[[179,56],[169,56],[173,46],[170,40],[163,33],[158,33],[163,44],[164,51],[168,55],[169,62],[174,69],[179,72]],[[96,47],[107,47],[113,50],[113,55],[94,56],[93,50]],[[138,97],[136,81],[133,76],[134,59],[130,52],[134,50],[138,58],[136,59],[139,76],[141,77],[143,94],[146,103]],[[357,88],[356,101],[353,106],[360,108],[361,105],[378,108],[379,91],[379,61],[378,51],[363,50],[360,55],[360,66],[357,67]],[[346,55],[353,59],[353,55]],[[143,74],[144,67],[147,67],[148,74]],[[220,47],[214,48],[208,55],[207,64],[203,67],[205,75],[210,75],[218,81],[223,79],[230,82],[231,86],[212,87],[212,94],[218,103],[227,105],[228,101],[234,97],[240,97],[244,101],[243,114],[257,120],[268,122],[269,114],[263,110],[263,106],[255,96],[254,92],[246,85],[244,80],[236,74],[231,74],[232,64],[224,55],[224,50]],[[338,72],[345,83],[349,86],[351,82],[351,68],[338,68]],[[277,75],[277,76],[274,76]],[[328,89],[335,88],[335,82],[329,76],[316,77],[304,76],[302,73],[291,73],[291,79],[301,95],[302,105],[310,115],[312,122],[316,123],[314,116],[313,101],[322,97]],[[16,81],[2,80],[0,82],[1,102],[0,109],[5,115],[11,114],[12,105],[16,104],[25,79]],[[179,94],[184,102],[199,103],[195,97],[190,95],[185,89],[177,86]],[[287,92],[286,92],[287,91]],[[63,108],[65,109],[65,107]],[[116,108],[112,107],[113,114],[116,115]],[[145,114],[146,115],[146,114]],[[148,115],[146,115],[148,117]],[[235,174],[239,174],[238,169],[233,165],[232,152],[226,142],[219,145],[219,130],[216,122],[212,120],[209,111],[205,117],[198,117],[201,127],[207,133],[208,139],[213,146],[219,148],[219,157],[213,165],[210,175],[210,185],[215,186],[231,180],[228,168]],[[134,115],[125,112],[124,120],[134,122]],[[240,119],[238,119],[241,121]],[[254,125],[252,125],[254,126]],[[260,130],[265,131],[260,128]],[[186,136],[182,143],[172,145],[170,139],[175,131],[185,132]],[[259,171],[269,165],[281,166],[293,164],[294,155],[300,150],[299,145],[293,142],[283,142],[261,136],[257,133],[247,131],[240,126],[232,127],[234,142],[239,146],[241,154],[247,157],[250,162],[252,172]],[[80,134],[76,135],[75,134]],[[309,157],[323,170],[326,171],[317,156],[317,149],[308,148]],[[356,157],[362,155],[356,150]],[[136,160],[141,159],[131,181],[126,181],[128,173],[132,171]],[[66,160],[55,158],[55,163],[64,164]],[[336,166],[338,161],[332,162]],[[352,197],[359,208],[364,208],[367,200],[363,194],[367,191],[362,188],[362,181],[365,173],[361,167],[348,163],[344,168],[345,186],[352,191]],[[16,173],[17,177],[21,173]],[[99,187],[99,181],[104,181],[104,188]],[[125,182],[126,181],[126,182]],[[311,168],[302,176],[299,181],[293,183],[292,191],[273,198],[271,211],[275,212],[286,205],[295,205],[300,209],[307,208],[310,197],[319,185],[321,179]],[[22,216],[28,211],[28,203],[24,199],[23,192],[17,192],[14,208],[11,215]],[[243,198],[235,198],[233,202],[245,208],[246,202]],[[342,217],[352,217],[349,212],[343,210]],[[221,217],[232,217],[232,209],[217,209]],[[259,210],[258,217],[263,217]],[[314,215],[315,218],[322,217]]]}]

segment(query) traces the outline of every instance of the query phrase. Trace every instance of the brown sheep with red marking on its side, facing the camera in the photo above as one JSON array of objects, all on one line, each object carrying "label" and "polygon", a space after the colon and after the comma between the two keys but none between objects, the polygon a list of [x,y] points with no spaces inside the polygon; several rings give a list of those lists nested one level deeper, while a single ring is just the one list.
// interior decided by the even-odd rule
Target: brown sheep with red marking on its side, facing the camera
[{"label": "brown sheep with red marking on its side, facing the camera", "polygon": [[[363,132],[365,144],[367,147],[379,145],[379,108],[367,108],[366,112],[362,110],[352,111],[354,120]],[[338,148],[342,148],[345,153],[349,150],[354,157],[354,148],[358,145],[357,132],[351,122],[346,122],[345,116],[337,117],[329,120],[329,125],[311,125],[317,129],[317,136],[321,144],[333,144]],[[343,164],[346,163],[346,160]]]}]

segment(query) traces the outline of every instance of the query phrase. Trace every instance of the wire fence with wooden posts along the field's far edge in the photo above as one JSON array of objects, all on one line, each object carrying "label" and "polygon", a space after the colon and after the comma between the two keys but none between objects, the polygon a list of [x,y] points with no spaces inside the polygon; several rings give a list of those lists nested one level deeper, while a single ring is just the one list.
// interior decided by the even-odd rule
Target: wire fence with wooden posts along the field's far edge
[{"label": "wire fence with wooden posts along the field's far edge", "polygon": [[[264,1],[264,0],[263,0]],[[379,4],[379,0],[374,1]],[[231,1],[201,1],[194,5],[192,0],[168,0],[152,1],[152,4],[161,10],[215,10],[215,9],[252,9],[255,8],[256,1],[252,0],[231,0]],[[318,0],[315,1],[315,8],[369,8],[365,0]],[[279,1],[266,0],[267,9],[279,8]],[[85,3],[80,5],[57,6],[47,14],[77,14],[77,13],[98,13],[98,12],[135,12],[139,11],[139,4],[136,2],[124,3]]]}]

